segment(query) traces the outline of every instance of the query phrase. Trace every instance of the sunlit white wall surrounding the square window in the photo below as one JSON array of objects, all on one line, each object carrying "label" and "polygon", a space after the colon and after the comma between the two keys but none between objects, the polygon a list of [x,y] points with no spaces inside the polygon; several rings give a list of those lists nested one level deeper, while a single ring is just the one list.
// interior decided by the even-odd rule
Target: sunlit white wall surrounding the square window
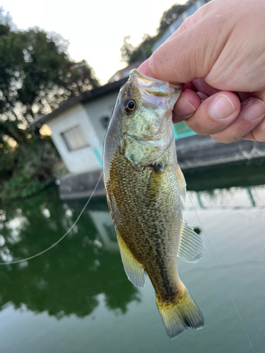
[{"label": "sunlit white wall surrounding the square window", "polygon": [[[86,109],[83,104],[76,104],[66,110],[66,112],[59,114],[47,125],[52,131],[52,140],[56,146],[61,159],[64,161],[69,172],[78,174],[82,172],[90,172],[100,169],[100,163],[94,153],[94,148],[100,148],[100,139],[95,132],[93,124],[89,119]],[[81,148],[80,150],[69,151],[61,136],[61,133],[74,128],[75,126],[82,126],[90,147]]]}]

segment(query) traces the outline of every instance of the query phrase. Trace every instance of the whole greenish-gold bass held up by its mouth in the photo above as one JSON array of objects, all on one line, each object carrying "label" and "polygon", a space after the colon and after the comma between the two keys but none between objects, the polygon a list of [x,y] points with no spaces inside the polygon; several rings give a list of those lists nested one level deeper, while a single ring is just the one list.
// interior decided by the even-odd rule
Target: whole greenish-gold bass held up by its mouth
[{"label": "whole greenish-gold bass held up by its mouth", "polygon": [[186,181],[172,124],[182,87],[132,70],[103,145],[105,192],[125,273],[136,287],[144,287],[146,271],[170,338],[204,327],[204,316],[177,272],[177,256],[194,263],[205,249],[182,219]]}]

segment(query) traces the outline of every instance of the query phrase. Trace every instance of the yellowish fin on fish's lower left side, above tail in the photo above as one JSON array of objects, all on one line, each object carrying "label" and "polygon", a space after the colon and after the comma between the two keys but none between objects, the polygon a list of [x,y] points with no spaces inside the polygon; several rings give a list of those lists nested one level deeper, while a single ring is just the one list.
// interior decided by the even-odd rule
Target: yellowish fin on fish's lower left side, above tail
[{"label": "yellowish fin on fish's lower left side, above tail", "polygon": [[143,266],[134,258],[119,234],[117,234],[117,241],[127,277],[136,287],[144,287]]}]

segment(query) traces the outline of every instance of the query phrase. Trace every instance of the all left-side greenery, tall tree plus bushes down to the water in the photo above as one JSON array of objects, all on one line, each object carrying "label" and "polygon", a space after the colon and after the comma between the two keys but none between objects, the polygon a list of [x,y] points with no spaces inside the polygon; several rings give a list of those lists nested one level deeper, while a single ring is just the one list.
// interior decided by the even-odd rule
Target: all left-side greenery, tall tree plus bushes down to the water
[{"label": "all left-side greenery, tall tree plus bushes down to the water", "polygon": [[0,197],[15,198],[22,186],[20,196],[28,196],[51,178],[56,152],[30,121],[99,85],[93,68],[71,61],[67,47],[54,32],[18,30],[0,8]]}]

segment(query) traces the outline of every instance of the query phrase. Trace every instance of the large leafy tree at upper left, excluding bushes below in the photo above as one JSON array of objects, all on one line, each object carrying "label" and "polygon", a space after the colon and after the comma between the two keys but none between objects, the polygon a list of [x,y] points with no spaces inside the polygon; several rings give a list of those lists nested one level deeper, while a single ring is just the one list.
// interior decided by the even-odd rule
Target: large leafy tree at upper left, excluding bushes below
[{"label": "large leafy tree at upper left, excluding bushes below", "polygon": [[0,143],[4,135],[25,142],[34,116],[99,85],[86,61],[69,59],[67,46],[56,33],[16,30],[0,8]]}]

